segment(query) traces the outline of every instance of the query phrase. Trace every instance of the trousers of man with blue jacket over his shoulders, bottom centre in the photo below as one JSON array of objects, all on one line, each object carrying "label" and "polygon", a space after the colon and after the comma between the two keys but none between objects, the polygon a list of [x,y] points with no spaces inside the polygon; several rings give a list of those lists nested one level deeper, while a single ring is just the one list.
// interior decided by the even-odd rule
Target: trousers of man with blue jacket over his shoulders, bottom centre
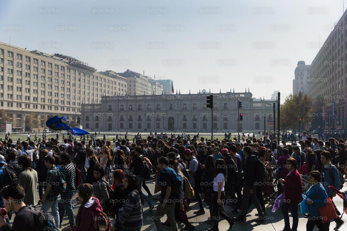
[{"label": "trousers of man with blue jacket over his shoulders, bottom centre", "polygon": [[168,216],[168,222],[171,225],[172,231],[178,231],[177,222],[175,219],[175,206],[176,203],[166,204],[164,208],[161,208],[161,203],[156,206],[154,214],[154,224],[158,231],[163,231],[163,225],[160,219],[166,214]]}]

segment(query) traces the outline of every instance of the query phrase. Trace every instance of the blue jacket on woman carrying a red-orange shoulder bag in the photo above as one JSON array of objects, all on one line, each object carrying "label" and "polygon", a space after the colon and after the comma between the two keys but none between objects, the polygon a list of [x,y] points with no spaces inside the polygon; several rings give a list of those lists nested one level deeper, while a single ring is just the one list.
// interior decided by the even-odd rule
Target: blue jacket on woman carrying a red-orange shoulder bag
[{"label": "blue jacket on woman carrying a red-orange shoulder bag", "polygon": [[[318,194],[318,195],[317,195]],[[312,217],[320,217],[318,208],[324,207],[328,203],[328,195],[321,183],[312,185],[305,194],[313,201],[312,205],[308,205],[308,215]]]}]

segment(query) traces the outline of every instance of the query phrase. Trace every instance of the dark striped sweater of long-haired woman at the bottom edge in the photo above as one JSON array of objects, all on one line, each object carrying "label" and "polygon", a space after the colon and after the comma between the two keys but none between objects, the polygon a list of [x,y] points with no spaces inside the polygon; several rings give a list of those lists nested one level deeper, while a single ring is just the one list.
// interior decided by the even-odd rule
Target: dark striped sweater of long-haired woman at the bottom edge
[{"label": "dark striped sweater of long-haired woman at the bottom edge", "polygon": [[137,229],[141,228],[142,222],[142,208],[141,199],[137,190],[131,191],[126,200],[123,202],[124,212],[119,217],[119,222],[124,229]]}]

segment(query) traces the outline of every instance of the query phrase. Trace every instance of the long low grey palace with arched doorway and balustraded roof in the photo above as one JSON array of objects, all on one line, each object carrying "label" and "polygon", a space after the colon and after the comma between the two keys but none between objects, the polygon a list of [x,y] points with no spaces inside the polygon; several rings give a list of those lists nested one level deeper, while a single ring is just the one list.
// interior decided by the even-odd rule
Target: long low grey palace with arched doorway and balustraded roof
[{"label": "long low grey palace with arched doorway and balustraded roof", "polygon": [[[273,103],[254,100],[252,93],[217,93],[213,95],[213,114],[206,107],[210,93],[174,95],[103,96],[99,104],[83,104],[82,125],[89,131],[210,131],[236,132],[237,99],[242,102],[240,130],[273,129]],[[276,103],[277,105],[277,103]]]}]

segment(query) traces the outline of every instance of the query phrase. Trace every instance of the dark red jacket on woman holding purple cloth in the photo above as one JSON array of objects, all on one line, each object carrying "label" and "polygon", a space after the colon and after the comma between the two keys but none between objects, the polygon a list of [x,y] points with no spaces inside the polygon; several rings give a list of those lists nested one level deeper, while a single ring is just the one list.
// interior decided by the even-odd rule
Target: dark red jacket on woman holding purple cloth
[{"label": "dark red jacket on woman holding purple cloth", "polygon": [[284,184],[284,199],[286,203],[298,204],[303,200],[301,194],[303,193],[303,186],[301,182],[301,177],[298,170],[294,170],[287,175],[286,179],[283,181]]}]

